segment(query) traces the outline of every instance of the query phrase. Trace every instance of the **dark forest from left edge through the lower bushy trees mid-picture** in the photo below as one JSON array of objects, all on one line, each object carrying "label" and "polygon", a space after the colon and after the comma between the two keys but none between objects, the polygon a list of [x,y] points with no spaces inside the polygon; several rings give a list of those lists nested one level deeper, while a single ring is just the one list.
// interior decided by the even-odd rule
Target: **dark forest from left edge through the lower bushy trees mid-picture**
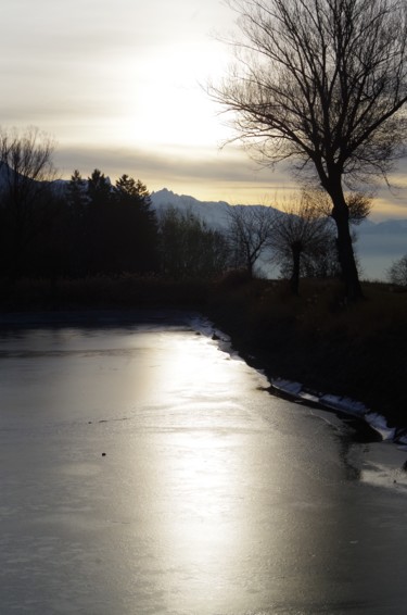
[{"label": "dark forest from left edge through the lower bushy trees mid-picture", "polygon": [[229,265],[220,231],[192,212],[168,209],[158,219],[139,179],[122,175],[112,185],[96,168],[87,179],[75,171],[69,181],[35,181],[7,171],[0,190],[3,279],[207,278]]}]

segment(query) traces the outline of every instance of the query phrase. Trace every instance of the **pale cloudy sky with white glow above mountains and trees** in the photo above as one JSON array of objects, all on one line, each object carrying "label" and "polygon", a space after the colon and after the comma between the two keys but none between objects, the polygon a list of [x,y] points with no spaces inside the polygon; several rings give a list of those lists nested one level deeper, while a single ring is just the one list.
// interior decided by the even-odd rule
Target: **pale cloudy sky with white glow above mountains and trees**
[{"label": "pale cloudy sky with white glow above mountains and trees", "polygon": [[[232,131],[205,91],[232,60],[220,38],[234,21],[222,0],[1,0],[0,126],[51,136],[63,178],[100,168],[150,191],[276,205],[295,180],[221,147]],[[407,217],[404,167],[372,219]]]}]

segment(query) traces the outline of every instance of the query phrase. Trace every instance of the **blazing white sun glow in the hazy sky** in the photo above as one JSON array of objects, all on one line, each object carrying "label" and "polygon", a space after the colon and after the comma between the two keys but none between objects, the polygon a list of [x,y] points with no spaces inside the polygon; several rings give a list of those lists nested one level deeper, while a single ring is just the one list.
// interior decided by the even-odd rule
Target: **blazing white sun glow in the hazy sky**
[{"label": "blazing white sun glow in the hazy sky", "polygon": [[[227,58],[204,46],[175,46],[139,66],[124,64],[118,138],[153,146],[217,146],[227,136],[219,111],[205,87],[217,78]],[[155,78],[152,78],[156,75]]]}]

